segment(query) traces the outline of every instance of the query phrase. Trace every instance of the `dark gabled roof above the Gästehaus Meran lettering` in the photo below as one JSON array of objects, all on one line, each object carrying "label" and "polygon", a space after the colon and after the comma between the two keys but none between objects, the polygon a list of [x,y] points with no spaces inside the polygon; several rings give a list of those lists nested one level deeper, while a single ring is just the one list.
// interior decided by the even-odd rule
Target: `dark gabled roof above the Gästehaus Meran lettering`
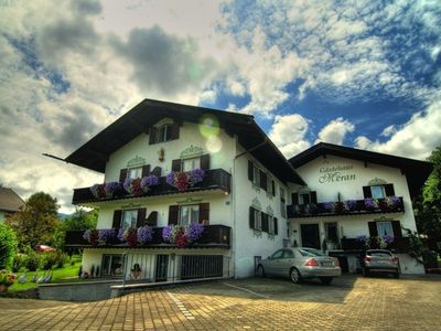
[{"label": "dark gabled roof above the G\u00e4stehaus Meran lettering", "polygon": [[298,169],[319,157],[325,156],[336,156],[367,163],[398,168],[407,177],[411,196],[416,196],[419,194],[422,185],[424,184],[427,178],[433,169],[433,164],[430,162],[384,154],[327,142],[319,142],[318,145],[314,145],[313,147],[291,158],[289,162],[295,169]]}]

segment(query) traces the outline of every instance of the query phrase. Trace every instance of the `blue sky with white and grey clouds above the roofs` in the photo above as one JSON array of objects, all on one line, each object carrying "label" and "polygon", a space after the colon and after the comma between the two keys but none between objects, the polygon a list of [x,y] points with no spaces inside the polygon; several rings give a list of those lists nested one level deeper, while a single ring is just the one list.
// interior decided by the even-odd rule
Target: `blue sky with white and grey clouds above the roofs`
[{"label": "blue sky with white and grey clouds above the roofs", "polygon": [[66,157],[143,98],[251,114],[287,158],[327,141],[441,145],[441,2],[1,1],[0,183],[103,177]]}]

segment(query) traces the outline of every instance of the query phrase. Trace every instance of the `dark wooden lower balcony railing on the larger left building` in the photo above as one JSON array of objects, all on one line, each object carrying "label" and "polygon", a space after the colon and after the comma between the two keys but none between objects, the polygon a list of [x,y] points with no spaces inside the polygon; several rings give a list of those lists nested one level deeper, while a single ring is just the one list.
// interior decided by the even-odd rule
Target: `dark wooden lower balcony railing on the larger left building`
[{"label": "dark wooden lower balcony railing on the larger left building", "polygon": [[[162,229],[163,227],[153,227],[153,236],[152,239],[146,245],[138,245],[139,248],[173,248],[176,247],[174,244],[165,243],[162,238]],[[116,229],[116,233],[118,229]],[[204,231],[202,232],[201,237],[187,245],[189,248],[208,248],[208,247],[218,247],[218,248],[229,248],[230,246],[230,232],[232,228],[226,225],[205,225]],[[114,238],[111,242],[107,244],[97,244],[92,245],[88,241],[86,241],[84,236],[84,229],[75,229],[67,231],[65,237],[66,247],[129,247],[127,243],[120,242],[118,238]]]}]

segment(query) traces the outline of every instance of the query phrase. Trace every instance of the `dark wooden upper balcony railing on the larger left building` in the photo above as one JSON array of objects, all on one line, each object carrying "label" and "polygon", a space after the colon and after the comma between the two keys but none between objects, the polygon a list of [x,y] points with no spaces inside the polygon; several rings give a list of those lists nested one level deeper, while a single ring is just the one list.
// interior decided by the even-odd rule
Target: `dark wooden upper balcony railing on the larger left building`
[{"label": "dark wooden upper balcony railing on the larger left building", "polygon": [[[197,192],[204,190],[222,190],[225,192],[230,192],[232,188],[232,175],[223,169],[214,169],[207,170],[205,172],[205,177],[202,182],[189,186],[184,192]],[[72,199],[73,204],[79,203],[88,203],[88,202],[98,202],[98,201],[108,201],[116,199],[129,199],[133,196],[157,196],[157,195],[165,195],[165,194],[175,194],[182,193],[178,191],[178,189],[169,185],[165,181],[165,177],[161,177],[159,179],[159,185],[152,186],[148,193],[143,193],[140,195],[132,195],[125,190],[120,190],[120,192],[116,192],[112,197],[95,197],[89,188],[75,189],[74,196]]]}]

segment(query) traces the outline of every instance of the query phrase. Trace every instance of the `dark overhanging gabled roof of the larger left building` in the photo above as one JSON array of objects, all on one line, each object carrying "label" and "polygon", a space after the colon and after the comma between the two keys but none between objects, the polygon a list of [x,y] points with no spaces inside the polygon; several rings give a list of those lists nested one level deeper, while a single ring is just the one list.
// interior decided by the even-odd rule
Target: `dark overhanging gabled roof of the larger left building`
[{"label": "dark overhanging gabled roof of the larger left building", "polygon": [[[187,106],[161,100],[144,99],[122,115],[71,156],[65,161],[98,172],[105,172],[109,156],[138,137],[164,117],[198,122],[203,115],[214,115],[220,128],[237,135],[239,143],[282,182],[304,184],[283,154],[256,124],[252,116]],[[262,143],[266,141],[266,143]]]}]

